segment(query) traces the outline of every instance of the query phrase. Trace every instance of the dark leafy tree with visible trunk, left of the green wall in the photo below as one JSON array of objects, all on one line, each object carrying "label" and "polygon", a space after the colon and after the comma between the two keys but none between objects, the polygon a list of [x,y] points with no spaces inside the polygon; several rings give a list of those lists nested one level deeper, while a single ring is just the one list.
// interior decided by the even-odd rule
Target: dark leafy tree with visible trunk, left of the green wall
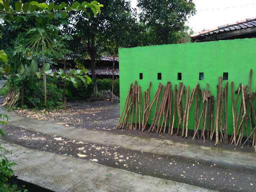
[{"label": "dark leafy tree with visible trunk, left of the green wall", "polygon": [[[104,4],[97,18],[84,19],[83,14],[71,15],[71,25],[65,26],[69,34],[74,34],[70,49],[77,57],[90,58],[93,92],[97,92],[95,66],[103,53],[117,55],[118,47],[137,45],[133,35],[136,16],[127,0],[99,0]],[[75,22],[73,22],[75,21]],[[135,35],[134,35],[135,36]],[[74,46],[75,45],[75,46]]]}]

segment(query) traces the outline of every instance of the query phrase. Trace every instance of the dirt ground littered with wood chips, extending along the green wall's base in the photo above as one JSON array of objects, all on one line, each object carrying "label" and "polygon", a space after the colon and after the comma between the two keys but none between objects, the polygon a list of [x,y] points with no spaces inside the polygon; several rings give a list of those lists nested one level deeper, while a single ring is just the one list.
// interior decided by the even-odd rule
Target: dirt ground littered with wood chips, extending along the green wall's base
[{"label": "dirt ground littered with wood chips, extending along the green wall's base", "polygon": [[253,148],[249,143],[245,144],[243,147],[235,146],[230,143],[224,144],[220,143],[215,145],[214,141],[205,140],[203,143],[200,139],[192,140],[191,133],[185,139],[181,136],[168,135],[163,133],[155,132],[141,132],[138,130],[130,129],[117,129],[114,127],[117,124],[120,110],[119,104],[111,104],[109,101],[94,101],[94,102],[70,102],[68,107],[59,110],[40,110],[34,111],[30,109],[16,109],[16,113],[21,116],[37,119],[37,120],[49,120],[54,121],[59,124],[65,124],[66,126],[75,126],[83,128],[92,128],[104,131],[111,131],[115,134],[126,134],[142,137],[154,137],[160,139],[169,139],[173,141],[194,143],[205,146],[214,146],[227,148],[232,150],[252,152]]}]

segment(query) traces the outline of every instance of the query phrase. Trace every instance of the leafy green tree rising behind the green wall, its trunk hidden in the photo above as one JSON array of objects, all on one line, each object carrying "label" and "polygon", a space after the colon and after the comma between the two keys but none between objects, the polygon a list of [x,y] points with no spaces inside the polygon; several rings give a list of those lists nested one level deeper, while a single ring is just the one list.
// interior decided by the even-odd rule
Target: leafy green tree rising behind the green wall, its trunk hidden
[{"label": "leafy green tree rising behind the green wall, its trunk hidden", "polygon": [[137,6],[148,45],[176,43],[187,30],[185,21],[195,13],[192,0],[138,0]]}]

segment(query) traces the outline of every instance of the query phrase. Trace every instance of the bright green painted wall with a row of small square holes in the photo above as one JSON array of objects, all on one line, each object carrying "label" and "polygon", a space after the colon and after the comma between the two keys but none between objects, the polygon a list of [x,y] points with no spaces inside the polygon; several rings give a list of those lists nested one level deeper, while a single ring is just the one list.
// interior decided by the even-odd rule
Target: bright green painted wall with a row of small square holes
[{"label": "bright green painted wall with a row of small square holes", "polygon": [[[232,130],[231,91],[230,83],[234,81],[234,89],[239,83],[248,84],[249,69],[252,69],[252,91],[255,91],[256,69],[256,38],[220,40],[198,43],[166,44],[156,46],[120,48],[120,108],[129,88],[134,80],[138,81],[141,90],[152,82],[151,98],[158,83],[167,81],[178,84],[182,81],[191,88],[199,82],[204,88],[209,84],[211,94],[216,95],[218,76],[228,72],[228,130]],[[143,79],[139,80],[139,72]],[[161,72],[162,79],[157,80],[157,72]],[[182,80],[177,80],[177,72],[182,73]],[[204,79],[199,80],[199,72],[204,72]],[[223,80],[223,84],[224,84]],[[238,107],[237,107],[238,108]],[[190,109],[189,124],[193,129],[193,106]]]}]

